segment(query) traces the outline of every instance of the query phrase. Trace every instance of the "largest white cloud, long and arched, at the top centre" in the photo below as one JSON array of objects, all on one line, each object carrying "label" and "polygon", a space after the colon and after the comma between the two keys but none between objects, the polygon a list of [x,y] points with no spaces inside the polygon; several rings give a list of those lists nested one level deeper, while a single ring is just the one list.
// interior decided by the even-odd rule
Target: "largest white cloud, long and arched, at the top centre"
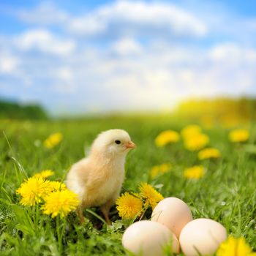
[{"label": "largest white cloud, long and arched, at the top centre", "polygon": [[116,1],[71,20],[69,31],[85,36],[165,32],[165,37],[201,37],[207,28],[195,16],[172,4]]}]

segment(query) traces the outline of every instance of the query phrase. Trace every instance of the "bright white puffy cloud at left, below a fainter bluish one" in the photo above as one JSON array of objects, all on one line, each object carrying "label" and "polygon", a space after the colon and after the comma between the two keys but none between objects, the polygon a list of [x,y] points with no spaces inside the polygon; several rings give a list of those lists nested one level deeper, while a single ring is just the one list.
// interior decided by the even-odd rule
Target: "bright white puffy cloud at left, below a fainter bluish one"
[{"label": "bright white puffy cloud at left, below a fainter bluish one", "polygon": [[43,53],[66,55],[75,50],[72,39],[61,39],[46,29],[32,29],[15,37],[15,45],[21,50],[39,50]]}]

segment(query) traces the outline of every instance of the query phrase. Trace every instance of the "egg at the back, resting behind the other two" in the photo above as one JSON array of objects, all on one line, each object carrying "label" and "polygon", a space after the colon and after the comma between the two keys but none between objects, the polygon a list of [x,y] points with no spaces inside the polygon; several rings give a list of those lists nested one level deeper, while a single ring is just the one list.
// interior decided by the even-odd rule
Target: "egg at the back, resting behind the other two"
[{"label": "egg at the back, resting behind the other two", "polygon": [[182,228],[192,219],[189,206],[176,197],[167,197],[160,201],[151,215],[152,221],[168,227],[177,238]]}]

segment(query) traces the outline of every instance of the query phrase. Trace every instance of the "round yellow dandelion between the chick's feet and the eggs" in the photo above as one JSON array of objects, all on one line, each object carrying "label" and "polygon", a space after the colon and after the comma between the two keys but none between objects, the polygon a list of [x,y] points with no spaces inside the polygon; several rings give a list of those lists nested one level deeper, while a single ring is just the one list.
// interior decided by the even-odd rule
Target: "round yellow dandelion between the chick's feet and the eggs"
[{"label": "round yellow dandelion between the chick's feet and the eggs", "polygon": [[139,217],[142,213],[143,202],[139,197],[135,197],[128,192],[125,192],[117,198],[116,208],[122,219],[134,219],[135,217]]}]

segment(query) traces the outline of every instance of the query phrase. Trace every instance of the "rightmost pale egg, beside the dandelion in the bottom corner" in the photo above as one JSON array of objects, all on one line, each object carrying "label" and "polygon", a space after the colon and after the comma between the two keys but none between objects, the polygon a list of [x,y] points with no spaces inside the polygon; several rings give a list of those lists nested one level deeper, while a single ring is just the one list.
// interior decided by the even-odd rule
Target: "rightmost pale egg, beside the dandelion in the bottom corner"
[{"label": "rightmost pale egg, beside the dandelion in the bottom corner", "polygon": [[218,222],[212,219],[194,219],[181,230],[179,241],[184,255],[197,256],[198,252],[200,255],[214,254],[226,238],[227,231]]}]

